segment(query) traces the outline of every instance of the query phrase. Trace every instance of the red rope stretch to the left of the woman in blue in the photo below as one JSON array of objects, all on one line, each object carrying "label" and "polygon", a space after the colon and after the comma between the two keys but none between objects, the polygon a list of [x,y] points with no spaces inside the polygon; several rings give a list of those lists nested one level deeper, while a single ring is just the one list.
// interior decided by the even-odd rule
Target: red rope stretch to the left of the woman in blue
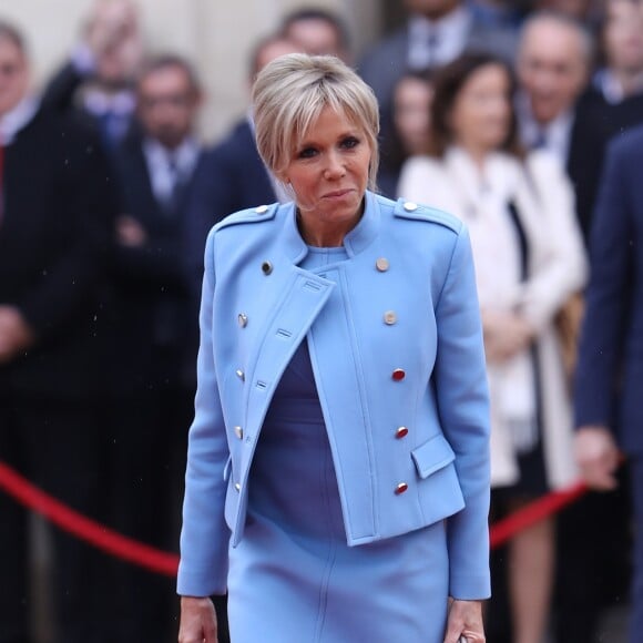
[{"label": "red rope stretch to the left of the woman in blue", "polygon": [[142,544],[85,518],[0,462],[0,489],[52,523],[94,547],[153,572],[175,576],[178,557]]}]

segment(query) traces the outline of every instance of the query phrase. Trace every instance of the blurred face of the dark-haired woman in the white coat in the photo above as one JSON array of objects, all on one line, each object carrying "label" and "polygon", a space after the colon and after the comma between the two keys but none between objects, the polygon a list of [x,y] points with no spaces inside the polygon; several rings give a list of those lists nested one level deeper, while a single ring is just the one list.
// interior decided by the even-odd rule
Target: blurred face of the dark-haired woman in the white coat
[{"label": "blurred face of the dark-haired woman in the white coat", "polygon": [[499,64],[474,71],[460,89],[451,111],[456,143],[478,152],[491,152],[507,140],[511,124],[511,83]]}]

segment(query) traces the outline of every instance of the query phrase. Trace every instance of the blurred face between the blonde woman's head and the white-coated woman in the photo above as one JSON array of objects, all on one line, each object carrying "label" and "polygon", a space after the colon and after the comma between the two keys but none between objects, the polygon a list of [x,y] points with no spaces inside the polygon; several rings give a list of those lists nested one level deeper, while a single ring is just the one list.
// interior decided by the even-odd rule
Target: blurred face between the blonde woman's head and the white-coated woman
[{"label": "blurred face between the blonde woman's head and the white-coated woman", "polygon": [[394,120],[405,152],[426,153],[430,132],[433,90],[428,81],[402,79],[395,91]]}]

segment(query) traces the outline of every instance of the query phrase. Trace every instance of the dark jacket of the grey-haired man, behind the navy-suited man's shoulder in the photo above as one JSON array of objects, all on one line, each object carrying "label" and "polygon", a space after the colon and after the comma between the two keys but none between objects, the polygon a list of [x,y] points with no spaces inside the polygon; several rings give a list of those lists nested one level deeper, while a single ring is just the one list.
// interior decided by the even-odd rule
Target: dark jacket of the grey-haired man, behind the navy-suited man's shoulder
[{"label": "dark jacket of the grey-haired man, behind the navy-suited man's shoulder", "polygon": [[642,123],[643,94],[611,104],[601,92],[590,89],[576,105],[568,172],[574,184],[576,214],[585,238],[590,234],[608,143]]}]

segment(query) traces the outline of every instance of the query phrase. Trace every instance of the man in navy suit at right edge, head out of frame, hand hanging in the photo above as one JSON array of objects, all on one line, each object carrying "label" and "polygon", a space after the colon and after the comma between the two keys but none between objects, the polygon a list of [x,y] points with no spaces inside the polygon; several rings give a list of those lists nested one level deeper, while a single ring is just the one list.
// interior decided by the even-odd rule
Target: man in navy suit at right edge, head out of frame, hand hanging
[{"label": "man in navy suit at right edge, head out of frame, hand hanging", "polygon": [[[576,453],[591,487],[614,489],[621,445],[634,512],[630,641],[643,632],[643,129],[609,150],[592,226],[575,384]],[[619,427],[618,436],[614,431]]]}]

